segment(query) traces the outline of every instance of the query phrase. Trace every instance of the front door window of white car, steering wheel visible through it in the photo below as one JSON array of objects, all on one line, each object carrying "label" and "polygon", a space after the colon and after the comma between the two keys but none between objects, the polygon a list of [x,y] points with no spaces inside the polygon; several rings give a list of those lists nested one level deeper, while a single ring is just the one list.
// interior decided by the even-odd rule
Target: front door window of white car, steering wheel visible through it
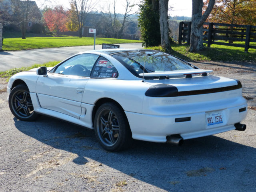
[{"label": "front door window of white car, steering wheel visible through it", "polygon": [[53,73],[89,77],[98,55],[80,54],[62,63]]}]

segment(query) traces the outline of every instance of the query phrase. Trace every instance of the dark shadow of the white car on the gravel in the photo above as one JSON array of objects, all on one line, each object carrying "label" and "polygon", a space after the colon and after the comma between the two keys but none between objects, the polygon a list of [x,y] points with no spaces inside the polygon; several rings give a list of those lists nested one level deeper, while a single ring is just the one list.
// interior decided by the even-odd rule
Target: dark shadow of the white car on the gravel
[{"label": "dark shadow of the white car on the gravel", "polygon": [[22,133],[77,154],[75,164],[83,166],[90,158],[164,190],[183,191],[190,186],[190,191],[209,191],[221,185],[222,191],[230,191],[230,186],[250,191],[256,186],[256,149],[217,136],[186,140],[181,147],[137,141],[128,150],[107,152],[92,130],[80,126],[46,116],[36,122],[16,118],[14,122]]}]

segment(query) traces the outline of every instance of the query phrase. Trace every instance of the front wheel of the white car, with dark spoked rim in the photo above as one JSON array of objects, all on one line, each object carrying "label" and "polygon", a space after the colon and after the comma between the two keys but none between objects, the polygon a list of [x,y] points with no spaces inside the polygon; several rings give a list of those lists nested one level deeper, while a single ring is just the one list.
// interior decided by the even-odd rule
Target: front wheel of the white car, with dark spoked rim
[{"label": "front wheel of the white car, with dark spoked rim", "polygon": [[9,107],[12,114],[22,121],[33,121],[39,116],[34,112],[29,90],[25,84],[19,84],[12,89],[9,95]]}]

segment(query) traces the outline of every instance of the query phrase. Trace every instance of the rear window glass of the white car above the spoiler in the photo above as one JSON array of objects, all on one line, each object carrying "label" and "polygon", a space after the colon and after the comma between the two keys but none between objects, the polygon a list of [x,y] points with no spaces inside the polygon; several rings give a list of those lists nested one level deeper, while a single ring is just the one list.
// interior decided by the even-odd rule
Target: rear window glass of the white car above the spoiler
[{"label": "rear window glass of the white car above the spoiler", "polygon": [[194,69],[182,60],[160,51],[122,52],[114,54],[113,57],[140,78],[139,74],[143,73],[144,65],[145,73]]}]

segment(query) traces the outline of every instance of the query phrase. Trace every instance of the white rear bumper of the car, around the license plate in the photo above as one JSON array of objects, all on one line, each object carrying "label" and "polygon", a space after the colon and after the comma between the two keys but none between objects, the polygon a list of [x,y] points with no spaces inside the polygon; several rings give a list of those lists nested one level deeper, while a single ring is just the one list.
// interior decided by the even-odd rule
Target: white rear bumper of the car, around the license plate
[{"label": "white rear bumper of the car, around the license plate", "polygon": [[[239,112],[239,109],[246,108]],[[125,112],[132,131],[132,138],[152,142],[166,142],[166,136],[180,134],[183,139],[208,136],[234,130],[234,124],[242,121],[247,114],[247,104],[221,110],[223,123],[207,126],[206,112],[194,112],[178,115],[148,115]],[[187,118],[189,121],[175,122],[176,118]]]}]

